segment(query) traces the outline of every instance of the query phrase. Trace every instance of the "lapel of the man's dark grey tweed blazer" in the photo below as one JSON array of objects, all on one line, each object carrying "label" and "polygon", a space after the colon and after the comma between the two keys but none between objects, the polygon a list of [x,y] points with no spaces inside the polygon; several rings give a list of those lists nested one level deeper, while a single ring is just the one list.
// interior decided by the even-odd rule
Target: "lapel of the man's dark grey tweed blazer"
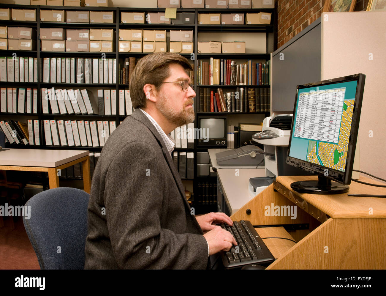
[{"label": "lapel of the man's dark grey tweed blazer", "polygon": [[190,206],[188,204],[188,201],[186,201],[185,189],[184,189],[184,186],[182,184],[181,177],[179,176],[177,168],[174,165],[173,160],[171,159],[169,151],[166,149],[166,145],[165,145],[163,139],[161,138],[161,135],[158,133],[156,127],[152,124],[152,122],[149,120],[149,118],[147,118],[147,116],[141,110],[135,109],[135,111],[133,112],[133,114],[131,116],[134,117],[135,119],[137,119],[138,121],[141,121],[143,124],[145,124],[150,129],[150,131],[152,132],[154,137],[157,139],[159,145],[162,148],[164,158],[166,159],[166,162],[168,163],[168,166],[171,170],[173,178],[176,181],[179,192],[181,193],[181,197],[184,201],[184,204],[185,204],[186,208],[190,211]]}]

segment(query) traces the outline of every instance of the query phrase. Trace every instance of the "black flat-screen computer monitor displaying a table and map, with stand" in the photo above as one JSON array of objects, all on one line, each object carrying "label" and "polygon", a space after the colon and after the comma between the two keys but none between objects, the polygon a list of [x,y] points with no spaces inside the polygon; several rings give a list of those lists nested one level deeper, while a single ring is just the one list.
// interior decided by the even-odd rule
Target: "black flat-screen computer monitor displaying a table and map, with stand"
[{"label": "black flat-screen computer monitor displaying a table and map, with stand", "polygon": [[355,74],[297,86],[286,162],[318,180],[294,182],[295,191],[349,190],[364,81],[364,74]]}]

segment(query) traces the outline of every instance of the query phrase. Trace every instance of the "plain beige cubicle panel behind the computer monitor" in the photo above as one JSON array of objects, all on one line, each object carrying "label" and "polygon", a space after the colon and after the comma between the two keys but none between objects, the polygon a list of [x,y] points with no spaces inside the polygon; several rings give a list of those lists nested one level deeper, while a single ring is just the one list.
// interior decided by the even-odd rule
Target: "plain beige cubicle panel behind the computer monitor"
[{"label": "plain beige cubicle panel behind the computer monitor", "polygon": [[386,12],[322,14],[321,79],[366,75],[358,139],[361,170],[386,178]]}]

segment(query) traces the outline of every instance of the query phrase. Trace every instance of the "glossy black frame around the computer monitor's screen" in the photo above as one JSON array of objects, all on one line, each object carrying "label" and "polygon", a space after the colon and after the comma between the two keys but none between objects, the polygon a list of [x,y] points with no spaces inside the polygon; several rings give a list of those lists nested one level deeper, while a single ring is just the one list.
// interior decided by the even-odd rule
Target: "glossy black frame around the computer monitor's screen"
[{"label": "glossy black frame around the computer monitor's screen", "polygon": [[[349,185],[351,183],[352,166],[354,163],[357,136],[358,136],[358,130],[359,130],[359,119],[361,116],[365,78],[366,78],[366,75],[364,75],[362,73],[358,73],[358,74],[344,76],[344,77],[322,80],[319,82],[306,83],[303,85],[298,85],[296,87],[295,104],[294,104],[293,117],[292,117],[292,123],[291,123],[291,134],[289,137],[288,154],[287,154],[287,160],[286,160],[287,164],[292,165],[294,167],[301,168],[301,169],[305,170],[306,172],[310,172],[310,173],[313,173],[316,175],[326,177],[328,179],[334,180],[334,181],[339,182],[341,184]],[[289,152],[291,150],[290,149],[291,148],[291,139],[293,136],[293,126],[294,126],[294,122],[295,122],[295,112],[296,112],[296,104],[298,102],[299,90],[301,90],[303,88],[309,88],[309,87],[318,87],[318,86],[326,85],[326,84],[330,84],[330,83],[335,84],[335,83],[350,82],[350,81],[357,81],[357,88],[356,88],[356,92],[355,92],[354,110],[352,112],[352,122],[351,122],[350,136],[349,136],[349,144],[348,144],[349,146],[347,148],[345,171],[342,172],[342,171],[335,170],[332,168],[324,167],[322,165],[318,165],[316,163],[311,163],[311,162],[308,162],[306,160],[301,160],[299,158],[289,156]],[[325,174],[326,168],[328,170],[327,175]]]}]

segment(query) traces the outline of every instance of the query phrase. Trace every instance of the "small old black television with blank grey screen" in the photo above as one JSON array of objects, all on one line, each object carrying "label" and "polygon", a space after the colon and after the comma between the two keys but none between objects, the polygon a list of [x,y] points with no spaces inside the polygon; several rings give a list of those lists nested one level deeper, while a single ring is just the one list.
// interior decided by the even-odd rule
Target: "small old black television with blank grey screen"
[{"label": "small old black television with blank grey screen", "polygon": [[227,147],[227,117],[198,116],[198,146]]}]

